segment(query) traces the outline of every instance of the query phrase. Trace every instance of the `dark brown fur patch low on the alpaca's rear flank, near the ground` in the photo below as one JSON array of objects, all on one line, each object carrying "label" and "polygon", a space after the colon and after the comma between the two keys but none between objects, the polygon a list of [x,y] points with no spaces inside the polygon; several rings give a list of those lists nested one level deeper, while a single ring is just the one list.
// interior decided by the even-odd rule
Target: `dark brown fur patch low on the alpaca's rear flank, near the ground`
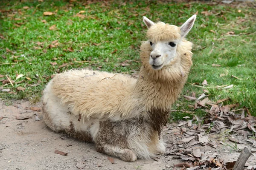
[{"label": "dark brown fur patch low on the alpaca's rear flank, near the ground", "polygon": [[92,139],[92,136],[90,135],[90,132],[76,131],[74,128],[73,122],[70,122],[70,128],[66,130],[66,133],[76,139],[83,141],[83,142],[93,143],[93,139]]}]

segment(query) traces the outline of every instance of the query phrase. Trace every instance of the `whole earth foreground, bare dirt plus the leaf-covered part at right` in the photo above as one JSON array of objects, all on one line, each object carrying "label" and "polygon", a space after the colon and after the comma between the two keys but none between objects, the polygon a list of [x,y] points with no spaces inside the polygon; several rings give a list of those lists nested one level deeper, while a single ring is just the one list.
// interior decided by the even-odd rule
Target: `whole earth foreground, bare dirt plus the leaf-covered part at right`
[{"label": "whole earth foreground, bare dirt plus the leaf-covered part at right", "polygon": [[[191,120],[167,125],[164,128],[166,155],[124,162],[96,152],[94,144],[53,132],[42,120],[40,109],[40,104],[30,105],[29,101],[13,101],[6,106],[0,100],[1,170],[210,170],[209,167],[217,170],[225,169],[227,163],[232,166],[244,147],[253,153],[246,166],[256,164],[256,144],[250,130],[242,129],[246,137],[245,133],[223,133],[218,130],[227,127],[215,126],[218,123],[212,116],[206,118],[212,119],[210,130],[201,121],[198,121],[200,127]],[[236,128],[238,125],[232,130]]]}]

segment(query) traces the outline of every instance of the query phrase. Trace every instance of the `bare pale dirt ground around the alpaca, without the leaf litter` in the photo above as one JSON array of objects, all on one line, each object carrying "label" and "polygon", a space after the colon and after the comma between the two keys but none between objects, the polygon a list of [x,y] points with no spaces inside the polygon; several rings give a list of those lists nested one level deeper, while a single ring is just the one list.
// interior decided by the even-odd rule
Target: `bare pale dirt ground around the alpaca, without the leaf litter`
[{"label": "bare pale dirt ground around the alpaca, without the leaf litter", "polygon": [[[40,103],[30,105],[29,101],[12,101],[12,105],[6,105],[0,99],[0,170],[172,170],[180,169],[174,164],[184,162],[177,159],[177,156],[159,156],[154,160],[138,160],[135,162],[124,162],[120,159],[98,153],[94,144],[80,142],[73,138],[67,138],[64,134],[55,133],[50,130],[41,118],[40,111],[32,111],[31,106],[40,108]],[[36,114],[38,116],[36,117]],[[29,116],[29,119],[18,120],[15,116]],[[20,117],[21,118],[21,117]],[[36,121],[37,119],[37,121]],[[170,125],[177,127],[176,124]],[[193,149],[199,148],[204,155],[217,155],[225,162],[235,161],[239,152],[231,147],[218,145],[213,148],[208,145],[193,146],[182,143],[178,135],[173,132],[180,132],[180,127],[173,128],[171,133],[166,133],[165,142],[167,150],[175,148]],[[62,137],[63,136],[63,137]],[[61,137],[63,139],[61,139]],[[245,144],[238,144],[243,148]],[[55,150],[68,153],[62,156],[55,153]],[[108,158],[113,158],[114,164]],[[256,158],[252,155],[248,165],[256,164]]]}]

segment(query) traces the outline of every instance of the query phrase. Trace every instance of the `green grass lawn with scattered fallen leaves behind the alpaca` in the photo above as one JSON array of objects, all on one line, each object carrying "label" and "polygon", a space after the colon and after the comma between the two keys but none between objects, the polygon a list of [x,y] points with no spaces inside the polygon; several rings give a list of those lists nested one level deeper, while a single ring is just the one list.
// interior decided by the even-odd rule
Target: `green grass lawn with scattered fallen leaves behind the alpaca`
[{"label": "green grass lawn with scattered fallen leaves behind the alpaca", "polygon": [[[39,2],[38,2],[39,1]],[[233,85],[207,88],[209,99],[230,98],[256,116],[256,10],[250,5],[161,3],[161,1],[94,2],[44,0],[2,1],[0,13],[0,75],[15,82],[0,98],[37,102],[55,73],[90,67],[111,72],[139,71],[139,45],[146,40],[142,16],[180,26],[197,13],[187,39],[194,43],[193,66],[174,110],[191,110],[183,95],[203,93],[199,84]],[[88,3],[89,2],[89,3]],[[150,4],[150,5],[148,5]],[[44,12],[51,15],[45,16]],[[220,66],[212,66],[217,64]],[[18,75],[22,77],[17,78]],[[0,80],[7,79],[1,77]],[[195,110],[204,114],[202,109]],[[172,118],[191,114],[174,111]]]}]

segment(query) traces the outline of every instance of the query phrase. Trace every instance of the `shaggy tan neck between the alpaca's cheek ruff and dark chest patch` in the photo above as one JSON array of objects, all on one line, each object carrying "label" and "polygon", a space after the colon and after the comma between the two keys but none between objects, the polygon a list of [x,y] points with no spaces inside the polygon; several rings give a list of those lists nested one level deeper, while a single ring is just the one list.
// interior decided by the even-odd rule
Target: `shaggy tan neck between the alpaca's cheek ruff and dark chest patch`
[{"label": "shaggy tan neck between the alpaca's cheek ruff and dark chest patch", "polygon": [[145,106],[145,111],[160,109],[169,111],[171,105],[175,102],[180,94],[186,77],[180,74],[179,79],[154,79],[148,71],[142,67],[139,78],[134,88],[134,94]]}]

